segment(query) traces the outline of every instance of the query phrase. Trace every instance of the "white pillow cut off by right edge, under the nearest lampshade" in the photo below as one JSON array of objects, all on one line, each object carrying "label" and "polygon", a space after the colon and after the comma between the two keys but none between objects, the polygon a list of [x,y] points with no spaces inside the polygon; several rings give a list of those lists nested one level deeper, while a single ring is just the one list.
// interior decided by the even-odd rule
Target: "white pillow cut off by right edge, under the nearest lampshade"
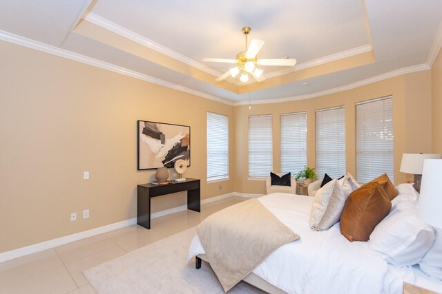
[{"label": "white pillow cut off by right edge, under the nearest lampshade", "polygon": [[419,268],[427,275],[442,280],[442,229],[436,229],[436,240],[419,262]]}]

